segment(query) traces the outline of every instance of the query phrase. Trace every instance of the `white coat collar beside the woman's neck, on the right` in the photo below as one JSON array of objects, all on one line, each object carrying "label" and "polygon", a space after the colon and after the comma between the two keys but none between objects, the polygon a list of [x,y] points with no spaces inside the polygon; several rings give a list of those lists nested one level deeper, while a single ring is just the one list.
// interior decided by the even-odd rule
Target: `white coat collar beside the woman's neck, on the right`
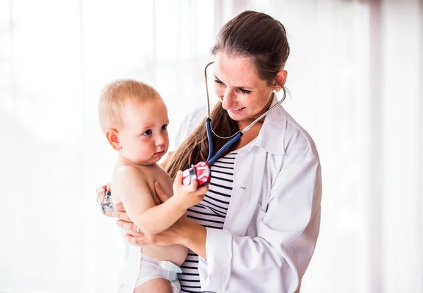
[{"label": "white coat collar beside the woman's neck, on the right", "polygon": [[[274,96],[271,106],[278,102],[276,95]],[[287,123],[287,113],[283,106],[276,106],[269,114],[266,115],[262,129],[255,141],[255,145],[260,146],[265,151],[276,154],[285,154],[285,132]]]}]

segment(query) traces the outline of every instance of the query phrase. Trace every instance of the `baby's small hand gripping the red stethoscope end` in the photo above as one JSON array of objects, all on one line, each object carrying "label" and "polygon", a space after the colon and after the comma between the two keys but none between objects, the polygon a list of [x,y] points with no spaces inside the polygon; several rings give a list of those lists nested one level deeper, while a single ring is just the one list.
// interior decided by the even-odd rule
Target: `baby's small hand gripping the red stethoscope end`
[{"label": "baby's small hand gripping the red stethoscope end", "polygon": [[173,197],[177,197],[183,208],[188,209],[190,206],[200,204],[204,194],[209,190],[209,186],[202,186],[198,188],[197,180],[193,180],[190,185],[182,184],[182,171],[176,173],[175,181],[173,182]]}]

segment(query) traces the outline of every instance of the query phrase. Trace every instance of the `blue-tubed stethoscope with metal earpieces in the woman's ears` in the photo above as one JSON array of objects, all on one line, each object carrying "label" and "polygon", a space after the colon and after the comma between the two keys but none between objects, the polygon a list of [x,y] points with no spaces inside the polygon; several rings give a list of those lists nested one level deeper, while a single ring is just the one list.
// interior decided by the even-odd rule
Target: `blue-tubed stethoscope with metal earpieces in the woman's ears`
[{"label": "blue-tubed stethoscope with metal earpieces in the woman's ears", "polygon": [[[282,87],[283,89],[283,97],[281,99],[281,101],[278,101],[278,103],[274,104],[274,106],[271,106],[271,108],[269,108],[269,110],[267,110],[265,113],[262,114],[262,116],[260,116],[259,118],[257,118],[256,120],[254,120],[252,123],[250,123],[250,125],[248,125],[247,127],[245,127],[243,130],[239,130],[238,132],[235,132],[234,135],[232,135],[231,137],[221,137],[223,139],[230,139],[230,141],[226,142],[226,144],[224,146],[221,147],[221,149],[219,149],[219,151],[217,151],[217,153],[213,156],[213,151],[214,151],[214,146],[213,146],[213,139],[212,139],[212,133],[214,133],[213,129],[212,129],[212,118],[210,118],[210,101],[209,101],[209,87],[207,85],[207,68],[212,65],[214,62],[210,62],[209,64],[207,64],[206,68],[204,68],[204,78],[206,80],[206,92],[207,92],[207,117],[206,117],[206,130],[207,130],[207,139],[209,141],[209,156],[207,157],[207,163],[209,163],[210,166],[213,165],[214,162],[216,162],[216,160],[218,158],[220,158],[220,156],[235,142],[238,141],[238,139],[240,139],[243,134],[245,132],[247,132],[247,130],[249,130],[252,125],[255,125],[255,123],[257,123],[259,120],[261,120],[264,116],[266,116],[267,114],[269,114],[270,111],[272,111],[274,108],[276,108],[276,106],[279,106],[286,98],[286,89],[285,87]],[[275,92],[274,92],[275,94]],[[216,135],[216,133],[214,133],[214,135]],[[216,135],[218,136],[218,135]]]}]

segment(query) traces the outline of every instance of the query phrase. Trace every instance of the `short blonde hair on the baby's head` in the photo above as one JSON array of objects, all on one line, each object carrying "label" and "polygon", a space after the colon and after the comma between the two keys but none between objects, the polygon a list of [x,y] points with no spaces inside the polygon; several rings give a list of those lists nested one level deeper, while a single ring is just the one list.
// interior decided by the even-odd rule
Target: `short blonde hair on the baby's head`
[{"label": "short blonde hair on the baby's head", "polygon": [[122,106],[130,101],[142,103],[160,98],[153,87],[137,80],[115,80],[106,85],[99,100],[99,119],[103,132],[110,127],[122,127]]}]

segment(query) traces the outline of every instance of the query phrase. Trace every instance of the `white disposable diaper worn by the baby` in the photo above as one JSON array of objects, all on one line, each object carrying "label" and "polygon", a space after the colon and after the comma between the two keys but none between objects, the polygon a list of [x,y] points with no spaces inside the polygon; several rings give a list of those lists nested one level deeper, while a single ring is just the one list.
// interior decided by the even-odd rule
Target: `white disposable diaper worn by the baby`
[{"label": "white disposable diaper worn by the baby", "polygon": [[128,247],[119,278],[118,293],[133,293],[136,287],[157,278],[168,280],[172,292],[179,293],[178,273],[182,273],[182,270],[171,261],[159,261],[140,253],[139,247]]}]

